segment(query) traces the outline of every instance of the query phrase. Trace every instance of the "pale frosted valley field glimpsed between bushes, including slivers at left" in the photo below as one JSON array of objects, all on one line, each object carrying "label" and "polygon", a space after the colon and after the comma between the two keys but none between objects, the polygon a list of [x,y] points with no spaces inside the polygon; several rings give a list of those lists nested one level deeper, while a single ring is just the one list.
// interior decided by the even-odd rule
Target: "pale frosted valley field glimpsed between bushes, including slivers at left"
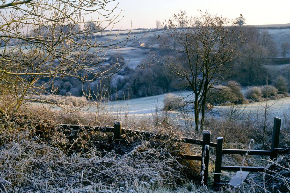
[{"label": "pale frosted valley field glimpsed between bushes, including slivers at left", "polygon": [[[245,89],[243,89],[243,92]],[[183,97],[188,96],[187,99],[193,97],[192,91],[176,91],[172,92],[174,95],[182,95]],[[110,101],[106,104],[107,113],[111,115],[118,115],[119,119],[122,120],[124,116],[134,116],[134,117],[152,117],[156,113],[156,110],[160,113],[163,107],[163,100],[166,94],[135,98],[130,100],[119,100]],[[33,102],[32,105],[40,105],[39,103]],[[49,108],[48,105],[44,105]],[[279,100],[268,101],[268,113],[267,117],[272,119],[274,116],[285,118],[285,116],[290,116],[290,97],[282,98]],[[187,110],[192,111],[192,106],[189,106]],[[227,117],[229,115],[231,106],[214,106],[212,111],[207,113],[207,117]],[[52,107],[51,109],[60,110],[59,107]],[[93,106],[85,106],[82,108],[83,111],[94,112]],[[241,112],[241,118],[247,117],[255,119],[257,116],[262,119],[265,111],[265,102],[255,102],[250,104],[243,104],[240,107],[239,112]],[[238,113],[237,113],[238,114]],[[180,111],[169,111],[169,116],[175,118],[176,120],[181,120],[182,112]],[[192,121],[194,121],[193,111],[188,112],[188,115]]]}]

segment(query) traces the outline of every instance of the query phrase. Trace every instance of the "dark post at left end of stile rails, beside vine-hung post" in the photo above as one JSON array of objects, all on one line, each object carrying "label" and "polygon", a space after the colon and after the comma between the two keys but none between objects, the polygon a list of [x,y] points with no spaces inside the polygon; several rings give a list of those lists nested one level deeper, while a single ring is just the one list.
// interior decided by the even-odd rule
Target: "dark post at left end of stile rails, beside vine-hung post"
[{"label": "dark post at left end of stile rails, beside vine-hung post", "polygon": [[215,174],[213,179],[213,185],[215,183],[220,182],[220,173],[222,167],[222,144],[223,144],[223,137],[217,137],[217,148],[215,151]]}]

